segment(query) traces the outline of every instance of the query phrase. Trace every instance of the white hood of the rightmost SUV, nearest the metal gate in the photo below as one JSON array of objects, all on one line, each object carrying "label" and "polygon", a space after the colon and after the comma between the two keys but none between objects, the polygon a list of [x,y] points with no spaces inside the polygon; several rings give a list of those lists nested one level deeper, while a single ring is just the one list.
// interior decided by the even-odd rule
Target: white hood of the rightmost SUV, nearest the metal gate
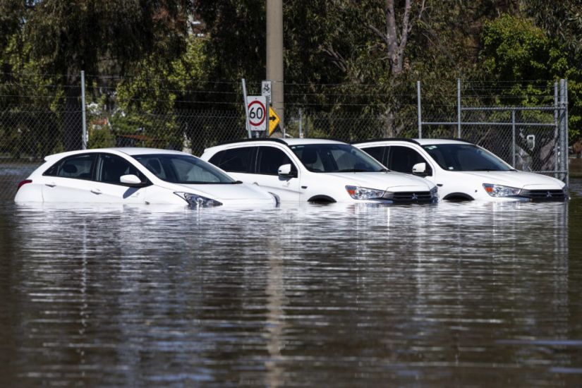
[{"label": "white hood of the rightmost SUV, nearest the metal gate", "polygon": [[492,183],[515,188],[546,190],[564,187],[564,182],[556,178],[525,171],[462,171],[462,174],[478,178],[480,183]]}]

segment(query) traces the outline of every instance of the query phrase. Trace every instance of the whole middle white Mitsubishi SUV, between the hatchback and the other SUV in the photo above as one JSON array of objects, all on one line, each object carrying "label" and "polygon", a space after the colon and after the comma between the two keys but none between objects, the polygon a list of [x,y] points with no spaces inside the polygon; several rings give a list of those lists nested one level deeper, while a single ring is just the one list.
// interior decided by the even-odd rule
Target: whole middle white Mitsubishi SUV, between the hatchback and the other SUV
[{"label": "whole middle white Mitsubishi SUV, between the hatchback and the other SUV", "polygon": [[423,178],[389,172],[365,152],[334,140],[256,138],[207,148],[200,157],[281,202],[437,202]]}]

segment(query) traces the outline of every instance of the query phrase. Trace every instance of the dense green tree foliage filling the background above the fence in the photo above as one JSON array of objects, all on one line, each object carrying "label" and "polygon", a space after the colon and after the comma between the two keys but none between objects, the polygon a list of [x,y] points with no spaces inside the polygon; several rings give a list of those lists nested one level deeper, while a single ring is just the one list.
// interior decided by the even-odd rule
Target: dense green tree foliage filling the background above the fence
[{"label": "dense green tree foliage filling the background above the fence", "polygon": [[[395,1],[400,38],[404,4]],[[341,117],[372,117],[369,133],[415,135],[417,80],[426,114],[454,119],[456,78],[492,81],[500,90],[475,104],[532,106],[551,104],[548,90],[568,78],[570,135],[581,135],[579,1],[411,4],[404,67],[395,75],[377,32],[387,30],[386,1],[285,1],[286,118],[301,107],[312,117],[312,134],[339,133],[349,125]],[[164,147],[181,147],[184,133],[219,138],[226,125],[241,121],[236,114],[227,124],[188,110],[242,114],[240,79],[252,85],[265,78],[265,11],[265,1],[256,0],[0,1],[0,107],[25,106],[50,117],[38,126],[34,115],[17,112],[18,125],[1,128],[0,148],[37,128],[42,135],[26,141],[40,154],[70,147],[55,140],[68,132],[80,139],[78,115],[66,113],[80,110],[80,70],[93,76],[96,117],[111,124],[111,133],[90,129],[91,146],[110,145],[122,134],[143,134]],[[205,37],[188,35],[194,14],[207,25]],[[509,82],[511,89],[504,87]]]}]

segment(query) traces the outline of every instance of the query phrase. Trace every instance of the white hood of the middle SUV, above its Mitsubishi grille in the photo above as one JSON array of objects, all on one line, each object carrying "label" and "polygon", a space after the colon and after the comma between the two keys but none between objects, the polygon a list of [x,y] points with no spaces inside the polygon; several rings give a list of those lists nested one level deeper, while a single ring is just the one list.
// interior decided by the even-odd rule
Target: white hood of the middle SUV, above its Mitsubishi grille
[{"label": "white hood of the middle SUV, above its Mitsubishi grille", "polygon": [[332,172],[326,176],[333,176],[346,185],[375,188],[378,190],[399,191],[428,191],[435,187],[433,183],[418,176],[401,174],[399,172]]}]

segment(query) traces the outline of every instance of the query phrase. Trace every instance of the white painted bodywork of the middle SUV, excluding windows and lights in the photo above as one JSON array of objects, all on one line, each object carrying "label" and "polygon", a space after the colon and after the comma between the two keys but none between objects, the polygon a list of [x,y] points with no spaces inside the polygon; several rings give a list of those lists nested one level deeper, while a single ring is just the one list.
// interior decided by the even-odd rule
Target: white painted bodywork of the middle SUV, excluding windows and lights
[{"label": "white painted bodywork of the middle SUV, excluding windows and lights", "polygon": [[[325,139],[286,139],[285,142],[291,145],[313,145],[338,143],[334,140]],[[265,141],[245,141],[241,143],[230,143],[210,147],[200,156],[200,159],[209,161],[214,154],[222,150],[229,150],[240,147],[268,146],[276,147],[285,152],[287,157],[296,166],[298,176],[283,177],[266,174],[246,174],[227,171],[227,174],[245,183],[254,184],[264,188],[270,193],[279,196],[281,202],[305,202],[315,196],[327,196],[337,202],[377,202],[377,200],[355,200],[351,198],[346,190],[346,186],[360,186],[387,191],[430,191],[435,185],[417,176],[400,174],[396,172],[342,172],[326,173],[313,172],[305,168],[289,147],[286,145],[265,142]]]}]

